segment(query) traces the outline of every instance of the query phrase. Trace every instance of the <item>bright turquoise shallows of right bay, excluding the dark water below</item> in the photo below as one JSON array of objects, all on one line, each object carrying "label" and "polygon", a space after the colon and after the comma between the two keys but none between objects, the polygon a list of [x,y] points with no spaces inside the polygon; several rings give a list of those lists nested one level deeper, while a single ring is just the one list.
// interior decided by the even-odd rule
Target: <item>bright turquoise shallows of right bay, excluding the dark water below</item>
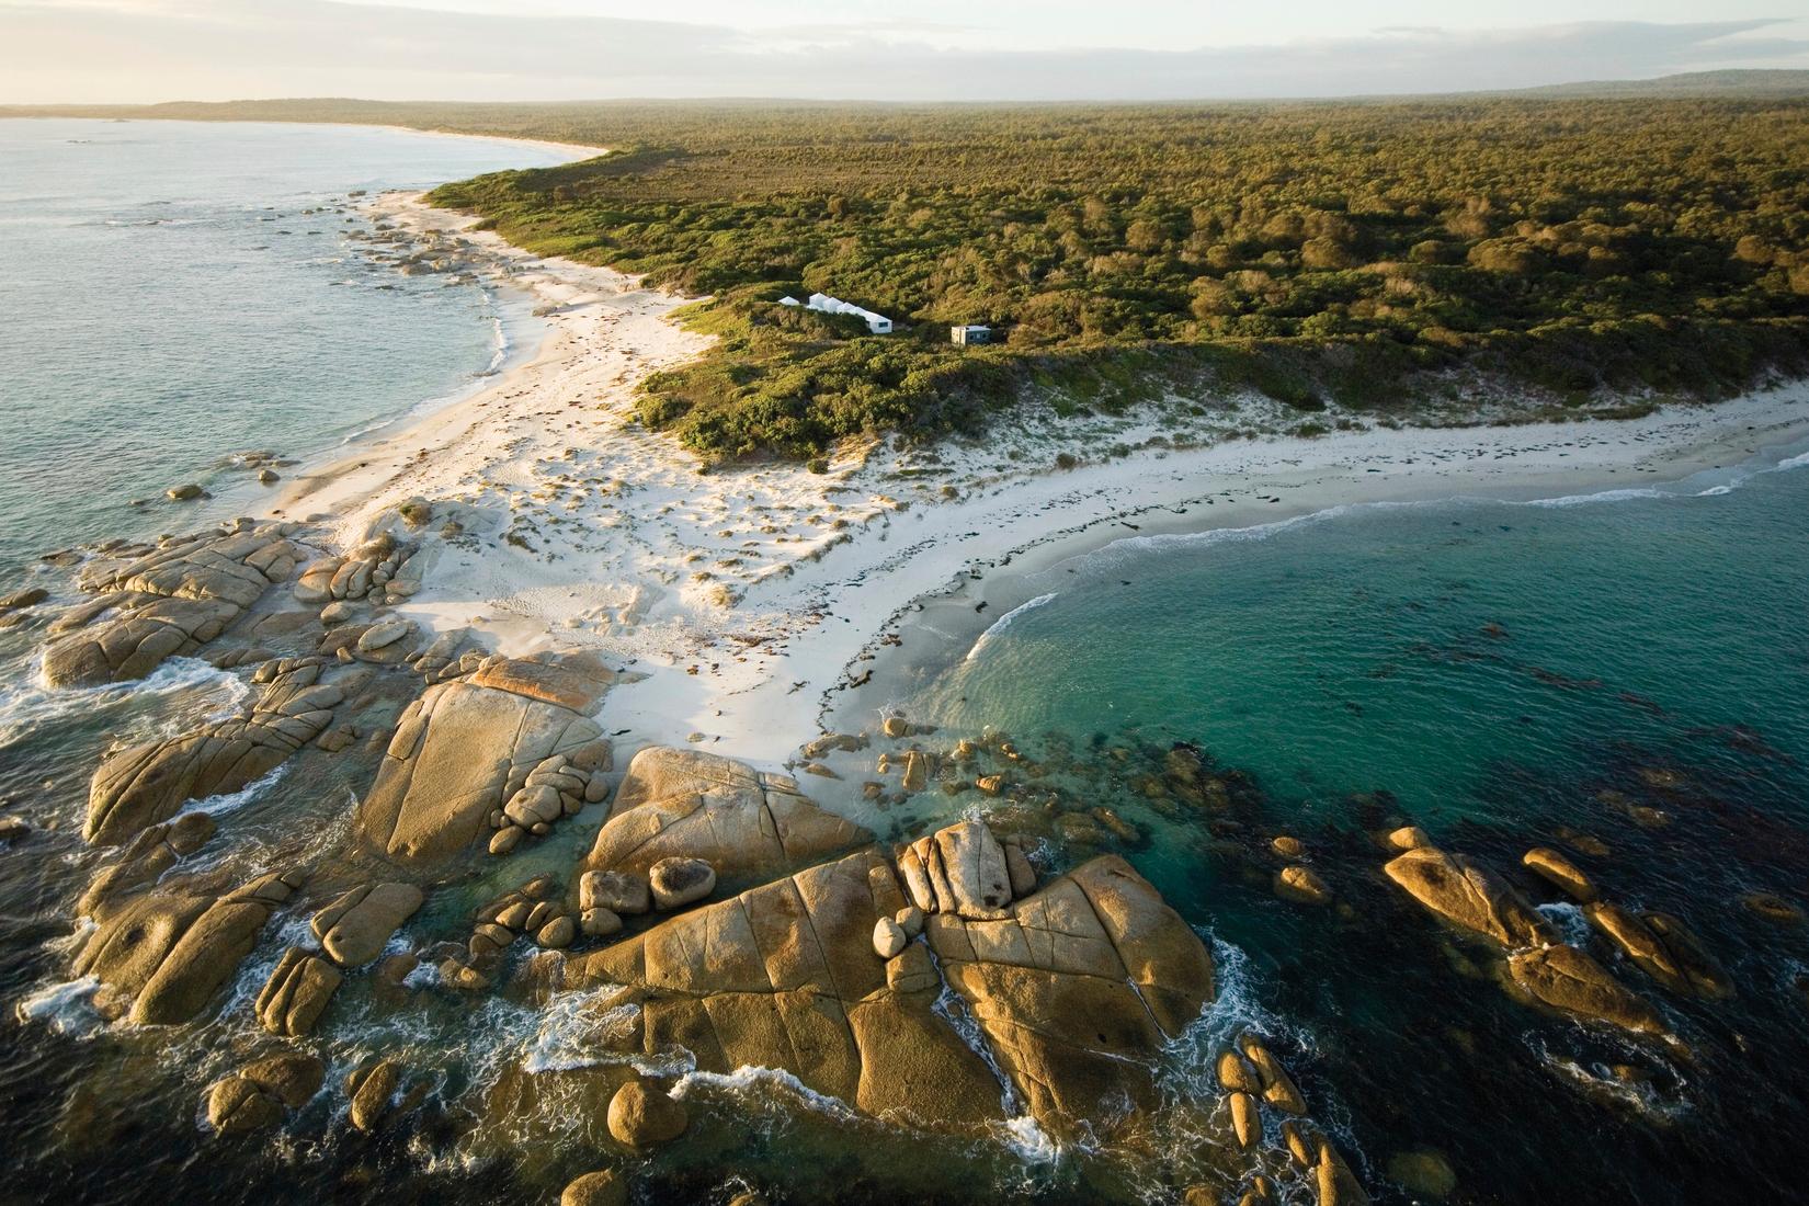
[{"label": "bright turquoise shallows of right bay, excluding the dark water below", "polygon": [[1511,763],[1737,725],[1809,758],[1804,470],[1120,541],[908,707],[1236,750],[1302,817],[1388,788],[1435,834]]}]

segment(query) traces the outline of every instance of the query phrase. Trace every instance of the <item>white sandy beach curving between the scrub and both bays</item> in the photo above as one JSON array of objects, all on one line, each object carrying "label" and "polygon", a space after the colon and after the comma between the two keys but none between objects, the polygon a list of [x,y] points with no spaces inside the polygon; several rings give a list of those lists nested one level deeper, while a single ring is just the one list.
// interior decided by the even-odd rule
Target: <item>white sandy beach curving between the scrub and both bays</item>
[{"label": "white sandy beach curving between the scrub and both bays", "polygon": [[[441,631],[470,626],[508,653],[586,647],[619,660],[631,682],[602,720],[630,747],[691,740],[778,767],[827,714],[854,723],[883,703],[843,693],[899,640],[914,600],[950,622],[962,613],[977,633],[975,615],[990,622],[1022,602],[1024,573],[1118,537],[1371,501],[1641,486],[1809,434],[1809,387],[1795,385],[1632,421],[1190,448],[1138,447],[1172,430],[1160,414],[1080,425],[1028,414],[980,445],[850,448],[829,474],[700,474],[696,457],[633,419],[639,382],[707,345],[671,320],[687,298],[528,255],[412,195],[385,195],[376,212],[412,237],[463,240],[492,284],[534,298],[546,333],[487,389],[295,479],[280,513],[313,517],[351,546],[403,501],[427,499],[427,589],[402,611]],[[1268,410],[1236,401],[1203,434],[1261,429]],[[1134,450],[1051,468],[1056,450],[1113,443]]]}]

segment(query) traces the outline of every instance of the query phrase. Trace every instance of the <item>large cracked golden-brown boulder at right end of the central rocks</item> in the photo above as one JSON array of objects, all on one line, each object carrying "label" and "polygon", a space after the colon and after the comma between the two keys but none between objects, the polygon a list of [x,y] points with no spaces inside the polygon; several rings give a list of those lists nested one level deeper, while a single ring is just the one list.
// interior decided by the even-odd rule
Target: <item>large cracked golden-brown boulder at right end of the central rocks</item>
[{"label": "large cracked golden-brown boulder at right end of the central rocks", "polygon": [[1000,1067],[1053,1135],[1156,1105],[1151,1063],[1212,998],[1212,958],[1116,855],[1085,862],[1002,920],[937,913],[924,933]]}]

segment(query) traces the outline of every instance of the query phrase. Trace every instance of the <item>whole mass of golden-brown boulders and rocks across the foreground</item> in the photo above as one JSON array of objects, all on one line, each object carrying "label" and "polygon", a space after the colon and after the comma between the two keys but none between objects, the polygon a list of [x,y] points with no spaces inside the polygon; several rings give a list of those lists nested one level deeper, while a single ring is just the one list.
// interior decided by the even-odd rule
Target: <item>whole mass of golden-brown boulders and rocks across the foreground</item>
[{"label": "whole mass of golden-brown boulders and rocks across the foreground", "polygon": [[[758,1076],[798,1114],[888,1135],[1134,1161],[1127,1197],[1368,1201],[1378,1170],[1346,1163],[1313,1121],[1322,1085],[1283,1061],[1308,1052],[1227,1023],[1212,946],[1127,861],[1161,823],[1270,908],[1353,940],[1398,906],[1409,942],[1509,1009],[1653,1063],[1691,1058],[1662,996],[1735,994],[1677,913],[1596,881],[1583,839],[1491,862],[1369,799],[1339,850],[1268,823],[1246,776],[1185,743],[1033,758],[892,714],[789,763],[872,776],[848,783],[861,821],[698,749],[619,767],[604,658],[421,631],[396,611],[427,568],[405,528],[346,553],[320,539],[237,523],[107,546],[80,566],[85,598],[5,604],[43,631],[52,683],[168,658],[239,683],[230,707],[92,768],[67,951],[101,1018],[210,1052],[186,1087],[210,1145],[405,1130],[534,1193],[622,1202],[657,1152],[718,1150],[747,1107],[711,1087]],[[295,815],[221,803],[279,776]],[[948,803],[908,806],[926,799]],[[29,837],[24,821],[0,834]],[[1793,924],[1787,900],[1749,908]],[[510,1047],[507,1027],[539,1038]],[[561,1143],[599,1166],[535,1181],[535,1152]],[[1425,1148],[1388,1177],[1454,1186]]]}]

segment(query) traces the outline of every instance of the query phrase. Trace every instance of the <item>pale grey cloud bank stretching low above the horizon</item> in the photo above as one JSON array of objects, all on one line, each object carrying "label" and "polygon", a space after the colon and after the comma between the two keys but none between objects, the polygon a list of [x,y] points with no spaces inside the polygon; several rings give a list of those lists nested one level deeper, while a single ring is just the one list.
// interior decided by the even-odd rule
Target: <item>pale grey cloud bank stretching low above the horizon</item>
[{"label": "pale grey cloud bank stretching low above the horizon", "polygon": [[1784,22],[1391,27],[1178,51],[973,51],[899,22],[743,31],[664,20],[503,16],[335,0],[0,0],[11,101],[1190,99],[1514,89],[1675,71],[1809,67]]}]

